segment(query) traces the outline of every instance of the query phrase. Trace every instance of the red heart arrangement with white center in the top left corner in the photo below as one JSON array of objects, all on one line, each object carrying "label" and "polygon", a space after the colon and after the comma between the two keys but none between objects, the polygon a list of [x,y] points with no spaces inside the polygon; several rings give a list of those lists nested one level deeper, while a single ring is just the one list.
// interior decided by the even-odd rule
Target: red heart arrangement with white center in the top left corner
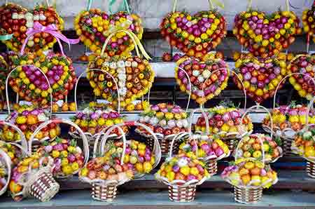
[{"label": "red heart arrangement with white center in the top left corner", "polygon": [[[13,38],[3,43],[15,52],[20,51],[27,38],[27,29],[33,29],[35,22],[43,26],[55,25],[59,32],[64,28],[64,20],[52,6],[36,6],[34,10],[28,11],[17,4],[4,4],[0,7],[0,35],[13,34]],[[25,51],[48,50],[54,43],[56,39],[51,34],[36,33],[28,40]]]}]

